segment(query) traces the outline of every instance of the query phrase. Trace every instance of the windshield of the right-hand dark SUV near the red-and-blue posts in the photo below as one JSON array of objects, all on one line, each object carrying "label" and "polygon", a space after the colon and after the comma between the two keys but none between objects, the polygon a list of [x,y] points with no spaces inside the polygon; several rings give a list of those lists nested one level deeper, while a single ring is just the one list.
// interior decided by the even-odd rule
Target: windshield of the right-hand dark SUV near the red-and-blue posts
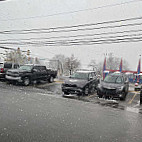
[{"label": "windshield of the right-hand dark SUV near the red-and-blue posts", "polygon": [[122,77],[121,76],[107,76],[104,79],[104,82],[106,83],[122,83]]}]

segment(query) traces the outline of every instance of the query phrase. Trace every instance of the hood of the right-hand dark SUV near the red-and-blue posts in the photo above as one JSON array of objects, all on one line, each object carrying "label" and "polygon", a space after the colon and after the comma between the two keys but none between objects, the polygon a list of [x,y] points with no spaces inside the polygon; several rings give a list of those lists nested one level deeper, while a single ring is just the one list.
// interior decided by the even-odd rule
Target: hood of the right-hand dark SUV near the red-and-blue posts
[{"label": "hood of the right-hand dark SUV near the red-and-blue posts", "polygon": [[116,89],[116,88],[119,88],[119,87],[123,86],[123,84],[106,83],[106,82],[101,82],[100,85],[101,85],[103,88],[107,88],[107,89]]}]

